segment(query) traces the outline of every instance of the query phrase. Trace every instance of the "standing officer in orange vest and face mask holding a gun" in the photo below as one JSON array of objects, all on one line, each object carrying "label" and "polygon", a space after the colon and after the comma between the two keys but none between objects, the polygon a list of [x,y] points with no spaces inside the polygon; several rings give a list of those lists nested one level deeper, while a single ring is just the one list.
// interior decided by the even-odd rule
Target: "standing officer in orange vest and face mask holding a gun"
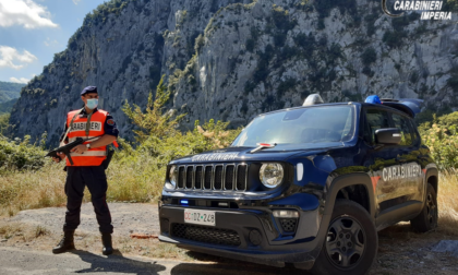
[{"label": "standing officer in orange vest and face mask holding a gun", "polygon": [[[75,141],[76,138],[88,141],[71,151],[70,156],[73,159],[73,165],[67,159],[64,235],[52,252],[57,254],[74,249],[73,235],[80,225],[83,192],[87,187],[101,232],[103,253],[108,255],[113,251],[111,243],[113,227],[106,201],[108,184],[104,160],[107,158],[107,145],[113,143],[117,146],[116,140],[119,132],[113,118],[107,111],[97,109],[97,87],[85,87],[81,92],[81,99],[84,101],[84,107],[67,115],[65,131],[61,136],[61,144]],[[53,158],[56,163],[65,158],[64,154],[59,156],[60,158]]]}]

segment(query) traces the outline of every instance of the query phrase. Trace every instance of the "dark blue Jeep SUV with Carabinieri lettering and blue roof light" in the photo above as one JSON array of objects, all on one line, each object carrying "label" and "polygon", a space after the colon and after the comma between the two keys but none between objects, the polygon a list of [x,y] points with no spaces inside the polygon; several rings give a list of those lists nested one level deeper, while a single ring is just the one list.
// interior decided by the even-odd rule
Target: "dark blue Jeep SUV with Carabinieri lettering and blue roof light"
[{"label": "dark blue Jeep SUV with Carabinieri lettering and blue roof light", "polygon": [[323,104],[257,116],[232,145],[170,162],[160,237],[179,247],[315,274],[365,274],[377,231],[437,226],[437,168],[419,100]]}]

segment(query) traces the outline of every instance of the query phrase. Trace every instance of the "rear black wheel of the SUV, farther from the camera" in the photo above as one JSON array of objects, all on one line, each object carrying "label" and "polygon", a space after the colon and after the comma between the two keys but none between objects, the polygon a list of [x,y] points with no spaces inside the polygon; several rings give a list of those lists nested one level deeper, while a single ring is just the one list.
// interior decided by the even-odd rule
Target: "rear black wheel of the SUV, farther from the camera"
[{"label": "rear black wheel of the SUV, farther from the camera", "polygon": [[437,194],[431,183],[426,188],[426,202],[424,203],[421,213],[410,220],[413,230],[419,232],[426,232],[437,227]]}]

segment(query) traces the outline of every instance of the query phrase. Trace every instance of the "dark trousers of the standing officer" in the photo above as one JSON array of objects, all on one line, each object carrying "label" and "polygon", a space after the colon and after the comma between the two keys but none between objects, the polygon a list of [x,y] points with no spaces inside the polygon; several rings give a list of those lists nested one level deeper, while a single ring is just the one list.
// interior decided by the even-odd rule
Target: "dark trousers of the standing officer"
[{"label": "dark trousers of the standing officer", "polygon": [[67,212],[63,231],[75,230],[80,225],[84,188],[91,192],[100,232],[113,232],[110,210],[107,205],[107,176],[104,166],[67,167]]}]

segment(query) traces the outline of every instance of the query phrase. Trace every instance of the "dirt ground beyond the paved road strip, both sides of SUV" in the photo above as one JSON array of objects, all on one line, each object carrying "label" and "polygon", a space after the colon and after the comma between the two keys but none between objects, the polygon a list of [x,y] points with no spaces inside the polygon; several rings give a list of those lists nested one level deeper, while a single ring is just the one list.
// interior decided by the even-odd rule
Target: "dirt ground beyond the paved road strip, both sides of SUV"
[{"label": "dirt ground beyond the paved road strip, both sides of SUV", "polygon": [[[174,259],[185,262],[231,263],[236,261],[190,252],[174,246],[160,243],[156,238],[136,239],[131,235],[157,236],[157,205],[109,204],[114,226],[114,248],[128,255],[143,255],[155,259]],[[0,247],[26,250],[50,251],[59,241],[65,208],[52,207],[20,212],[11,218],[0,219]],[[441,226],[441,225],[439,225]],[[101,244],[97,222],[91,204],[82,207],[82,224],[75,235],[77,249],[100,253]],[[378,255],[371,275],[389,274],[458,274],[458,258],[447,253],[433,252],[441,240],[458,240],[445,236],[441,228],[426,234],[415,234],[408,223],[391,226],[378,232]],[[239,263],[246,266],[246,263]],[[285,273],[285,270],[272,270]],[[277,271],[277,272],[276,272]],[[287,268],[289,274],[304,274]]]}]

